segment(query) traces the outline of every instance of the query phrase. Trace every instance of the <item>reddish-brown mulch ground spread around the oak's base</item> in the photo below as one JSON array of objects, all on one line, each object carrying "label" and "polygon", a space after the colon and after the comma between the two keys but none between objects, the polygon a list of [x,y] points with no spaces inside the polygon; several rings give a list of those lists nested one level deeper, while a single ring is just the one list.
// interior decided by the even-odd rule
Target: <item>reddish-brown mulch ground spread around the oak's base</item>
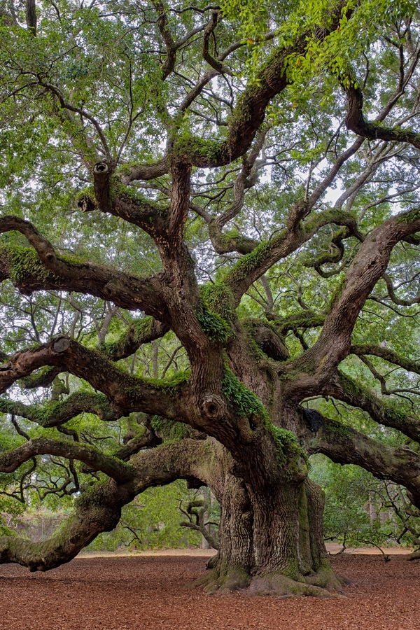
[{"label": "reddish-brown mulch ground spread around the oak's base", "polygon": [[420,561],[342,555],[346,598],[207,596],[200,556],[80,558],[48,573],[0,566],[1,630],[420,630]]}]

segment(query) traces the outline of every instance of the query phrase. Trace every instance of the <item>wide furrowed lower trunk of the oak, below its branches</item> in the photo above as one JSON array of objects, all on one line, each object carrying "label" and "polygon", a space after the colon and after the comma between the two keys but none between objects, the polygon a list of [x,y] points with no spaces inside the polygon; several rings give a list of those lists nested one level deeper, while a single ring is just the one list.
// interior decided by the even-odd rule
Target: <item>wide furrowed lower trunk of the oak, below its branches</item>
[{"label": "wide furrowed lower trunk of the oak, below its branches", "polygon": [[[220,549],[211,571],[194,582],[209,593],[328,596],[341,589],[323,541],[324,495],[309,478],[285,470],[267,488],[245,483],[223,458],[214,491],[221,503]],[[220,459],[219,459],[220,462]],[[221,474],[222,473],[222,474]],[[282,478],[281,478],[282,477]]]}]

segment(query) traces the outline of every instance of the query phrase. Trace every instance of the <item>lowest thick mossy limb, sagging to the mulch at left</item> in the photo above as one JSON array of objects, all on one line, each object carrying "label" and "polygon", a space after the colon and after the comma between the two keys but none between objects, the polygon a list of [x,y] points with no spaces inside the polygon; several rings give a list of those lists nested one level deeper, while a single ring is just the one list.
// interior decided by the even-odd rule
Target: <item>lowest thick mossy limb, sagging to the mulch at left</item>
[{"label": "lowest thick mossy limb, sagging to the mulch at left", "polygon": [[[70,443],[70,442],[69,442]],[[71,443],[74,444],[74,443]],[[144,451],[130,464],[136,478],[117,484],[113,479],[95,484],[76,498],[76,510],[59,533],[45,542],[30,542],[18,537],[0,538],[0,563],[16,562],[31,571],[45,571],[73,559],[102,531],[118,524],[121,508],[148,487],[165,485],[175,479],[202,478],[211,484],[217,445],[206,441],[182,440],[158,449]],[[134,462],[135,460],[135,462]],[[124,470],[133,470],[120,462]]]}]

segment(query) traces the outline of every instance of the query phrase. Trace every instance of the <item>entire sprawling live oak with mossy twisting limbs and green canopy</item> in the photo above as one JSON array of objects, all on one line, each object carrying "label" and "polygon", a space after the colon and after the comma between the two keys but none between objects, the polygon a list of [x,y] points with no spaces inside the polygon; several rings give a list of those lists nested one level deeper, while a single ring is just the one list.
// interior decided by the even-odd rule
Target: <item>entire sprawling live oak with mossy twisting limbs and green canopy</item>
[{"label": "entire sprawling live oak with mossy twisting limbs and green canopy", "polygon": [[221,504],[207,590],[321,596],[311,454],[420,508],[419,14],[267,4],[1,5],[1,482],[77,495],[3,563],[186,479]]}]

